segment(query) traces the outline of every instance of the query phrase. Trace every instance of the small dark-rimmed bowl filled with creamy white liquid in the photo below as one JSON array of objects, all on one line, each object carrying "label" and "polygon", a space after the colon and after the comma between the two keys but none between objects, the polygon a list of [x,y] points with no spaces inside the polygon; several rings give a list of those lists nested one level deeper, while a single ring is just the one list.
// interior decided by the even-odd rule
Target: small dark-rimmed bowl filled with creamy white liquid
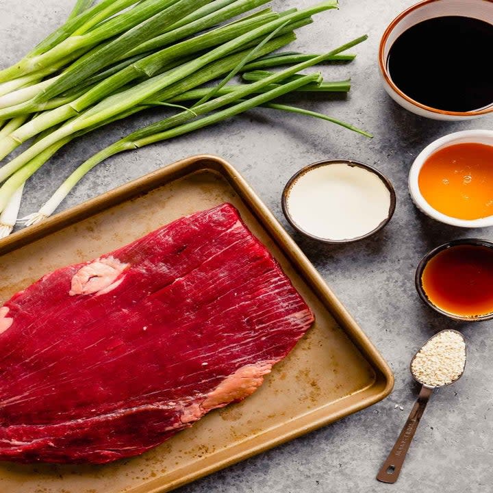
[{"label": "small dark-rimmed bowl filled with creamy white liquid", "polygon": [[329,244],[364,240],[394,215],[396,194],[379,170],[351,160],[320,161],[286,184],[282,208],[300,233]]}]

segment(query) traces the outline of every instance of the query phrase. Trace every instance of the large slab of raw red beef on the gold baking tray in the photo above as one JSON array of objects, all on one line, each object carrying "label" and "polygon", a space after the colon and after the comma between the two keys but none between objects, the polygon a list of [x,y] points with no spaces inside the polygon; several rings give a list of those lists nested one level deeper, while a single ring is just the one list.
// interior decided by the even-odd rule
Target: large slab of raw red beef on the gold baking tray
[{"label": "large slab of raw red beef on the gold baking tray", "polygon": [[0,308],[0,459],[101,464],[262,384],[313,314],[229,204]]}]

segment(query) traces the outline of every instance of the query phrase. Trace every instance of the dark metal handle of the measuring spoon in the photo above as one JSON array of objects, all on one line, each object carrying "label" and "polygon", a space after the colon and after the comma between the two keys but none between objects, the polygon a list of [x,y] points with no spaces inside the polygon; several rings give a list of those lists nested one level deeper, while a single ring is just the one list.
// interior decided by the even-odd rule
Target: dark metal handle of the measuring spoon
[{"label": "dark metal handle of the measuring spoon", "polygon": [[433,389],[425,387],[424,385],[422,386],[418,400],[414,404],[411,414],[409,414],[409,418],[407,418],[406,424],[404,425],[394,448],[390,451],[389,456],[383,463],[383,466],[377,475],[379,481],[382,481],[383,483],[395,483],[399,478],[404,459],[409,450],[409,446],[411,445],[414,433],[416,433],[416,429],[418,428],[421,416],[425,412],[431,392],[433,392]]}]

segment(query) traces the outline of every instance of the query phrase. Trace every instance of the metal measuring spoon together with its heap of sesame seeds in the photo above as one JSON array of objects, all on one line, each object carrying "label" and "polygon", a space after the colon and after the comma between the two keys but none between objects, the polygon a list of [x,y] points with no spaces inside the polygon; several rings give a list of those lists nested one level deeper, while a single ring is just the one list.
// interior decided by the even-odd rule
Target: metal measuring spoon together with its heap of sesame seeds
[{"label": "metal measuring spoon together with its heap of sesame seeds", "polygon": [[466,341],[462,333],[455,330],[447,329],[435,334],[414,355],[409,370],[422,387],[394,448],[379,470],[379,481],[395,483],[399,479],[407,451],[433,390],[455,383],[464,374],[464,368]]}]

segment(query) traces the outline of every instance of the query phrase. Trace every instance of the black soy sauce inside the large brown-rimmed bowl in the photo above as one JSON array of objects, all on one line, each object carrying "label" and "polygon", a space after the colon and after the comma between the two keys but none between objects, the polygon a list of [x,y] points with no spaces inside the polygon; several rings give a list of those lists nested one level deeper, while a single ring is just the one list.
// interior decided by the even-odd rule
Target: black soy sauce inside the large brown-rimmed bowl
[{"label": "black soy sauce inside the large brown-rimmed bowl", "polygon": [[388,71],[408,97],[437,110],[468,112],[493,103],[493,24],[464,16],[423,21],[390,48]]}]

